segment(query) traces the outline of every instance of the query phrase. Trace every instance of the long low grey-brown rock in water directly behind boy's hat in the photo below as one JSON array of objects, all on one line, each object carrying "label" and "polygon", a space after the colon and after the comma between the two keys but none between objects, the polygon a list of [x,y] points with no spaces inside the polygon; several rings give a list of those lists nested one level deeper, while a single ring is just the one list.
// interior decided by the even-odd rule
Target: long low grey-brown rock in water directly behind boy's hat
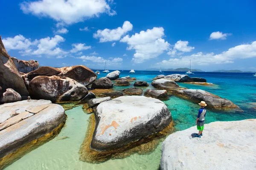
[{"label": "long low grey-brown rock in water directly behind boy's hat", "polygon": [[189,98],[194,100],[195,102],[205,101],[207,103],[207,107],[213,108],[238,108],[233,102],[228,99],[223,99],[220,96],[211,94],[204,90],[198,89],[184,89],[175,91],[175,94],[179,96]]}]

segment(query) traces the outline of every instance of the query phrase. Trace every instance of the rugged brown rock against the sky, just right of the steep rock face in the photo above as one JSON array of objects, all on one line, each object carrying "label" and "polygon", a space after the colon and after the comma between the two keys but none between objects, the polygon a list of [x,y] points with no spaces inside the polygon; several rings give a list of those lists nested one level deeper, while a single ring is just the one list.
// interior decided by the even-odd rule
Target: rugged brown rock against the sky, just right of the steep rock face
[{"label": "rugged brown rock against the sky, just right of the steep rock face", "polygon": [[14,64],[16,65],[18,71],[22,73],[29,73],[39,68],[39,63],[36,60],[25,61],[25,60],[19,60],[15,57],[11,57],[11,58]]}]

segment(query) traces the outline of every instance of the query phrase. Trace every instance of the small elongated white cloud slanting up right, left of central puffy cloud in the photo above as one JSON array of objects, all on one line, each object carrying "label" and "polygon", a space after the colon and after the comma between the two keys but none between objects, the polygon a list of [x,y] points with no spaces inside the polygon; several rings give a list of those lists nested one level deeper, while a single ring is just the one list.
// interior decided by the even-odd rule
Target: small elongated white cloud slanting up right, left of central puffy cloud
[{"label": "small elongated white cloud slanting up right, left of central puffy cloud", "polygon": [[93,37],[99,39],[99,42],[117,41],[128,31],[131,31],[132,27],[129,21],[125,21],[122,28],[98,30],[93,34]]}]

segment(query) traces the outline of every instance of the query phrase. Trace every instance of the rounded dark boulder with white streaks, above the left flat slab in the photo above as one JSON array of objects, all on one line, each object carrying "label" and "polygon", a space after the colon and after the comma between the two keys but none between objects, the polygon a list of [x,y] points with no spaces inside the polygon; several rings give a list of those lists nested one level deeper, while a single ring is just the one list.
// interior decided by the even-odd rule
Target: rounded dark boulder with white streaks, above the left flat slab
[{"label": "rounded dark boulder with white streaks, above the left flat slab", "polygon": [[38,76],[29,83],[32,99],[47,99],[52,102],[76,101],[88,94],[84,85],[68,77]]}]

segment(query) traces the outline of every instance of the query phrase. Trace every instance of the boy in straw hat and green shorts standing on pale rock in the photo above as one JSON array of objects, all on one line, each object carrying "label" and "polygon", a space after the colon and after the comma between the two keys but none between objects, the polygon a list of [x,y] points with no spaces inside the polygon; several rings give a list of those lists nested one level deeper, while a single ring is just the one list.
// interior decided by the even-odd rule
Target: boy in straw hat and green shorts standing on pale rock
[{"label": "boy in straw hat and green shorts standing on pale rock", "polygon": [[207,104],[204,101],[202,101],[198,104],[201,106],[201,109],[199,109],[199,111],[198,111],[198,117],[197,117],[195,123],[197,125],[197,129],[199,130],[199,132],[198,132],[198,134],[195,135],[195,137],[201,138],[201,136],[203,136],[204,118],[206,115],[206,109],[204,107],[207,106]]}]

